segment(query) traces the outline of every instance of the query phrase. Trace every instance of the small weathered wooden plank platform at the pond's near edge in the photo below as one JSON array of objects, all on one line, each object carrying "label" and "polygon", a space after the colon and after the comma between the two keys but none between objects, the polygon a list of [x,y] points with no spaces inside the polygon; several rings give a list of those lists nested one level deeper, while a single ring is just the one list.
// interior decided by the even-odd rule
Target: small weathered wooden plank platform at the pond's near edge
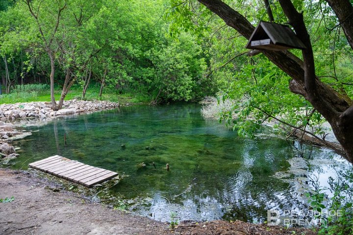
[{"label": "small weathered wooden plank platform at the pond's near edge", "polygon": [[32,168],[48,172],[87,187],[91,187],[94,184],[101,183],[118,175],[118,173],[114,171],[83,164],[59,155],[28,165]]}]

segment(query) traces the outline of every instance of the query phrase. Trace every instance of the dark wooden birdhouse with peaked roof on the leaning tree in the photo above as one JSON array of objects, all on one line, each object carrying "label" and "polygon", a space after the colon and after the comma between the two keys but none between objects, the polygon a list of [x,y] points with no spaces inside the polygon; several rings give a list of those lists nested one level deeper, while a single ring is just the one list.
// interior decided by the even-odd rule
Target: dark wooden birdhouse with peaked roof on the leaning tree
[{"label": "dark wooden birdhouse with peaked roof on the leaning tree", "polygon": [[305,49],[306,47],[287,25],[261,21],[252,32],[246,48],[287,50],[292,48]]}]

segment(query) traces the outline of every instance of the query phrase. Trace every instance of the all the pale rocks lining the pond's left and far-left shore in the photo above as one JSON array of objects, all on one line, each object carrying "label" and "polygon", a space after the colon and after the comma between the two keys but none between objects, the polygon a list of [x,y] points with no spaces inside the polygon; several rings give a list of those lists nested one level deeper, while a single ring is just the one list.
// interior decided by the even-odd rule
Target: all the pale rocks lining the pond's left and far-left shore
[{"label": "all the pale rocks lining the pond's left and far-left shore", "polygon": [[65,115],[87,114],[99,112],[103,110],[119,108],[119,103],[110,101],[84,101],[84,100],[67,100],[64,101],[63,108],[58,111],[51,109],[50,102],[29,102],[16,104],[0,105],[0,161],[8,162],[16,158],[16,147],[11,142],[16,139],[22,139],[31,135],[25,130],[18,131],[15,129],[13,121],[16,120],[33,120],[39,119],[44,121],[47,118],[56,118]]}]

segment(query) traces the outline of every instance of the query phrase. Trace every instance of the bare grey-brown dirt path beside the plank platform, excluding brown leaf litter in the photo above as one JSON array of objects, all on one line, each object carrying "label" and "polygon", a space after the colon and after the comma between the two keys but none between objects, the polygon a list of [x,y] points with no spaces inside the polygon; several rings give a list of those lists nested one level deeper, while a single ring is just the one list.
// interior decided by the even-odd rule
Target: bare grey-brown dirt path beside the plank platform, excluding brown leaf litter
[{"label": "bare grey-brown dirt path beside the plank platform, excluding brown leaf litter", "polygon": [[71,192],[50,190],[30,173],[0,169],[0,234],[156,235],[168,224],[109,209]]}]

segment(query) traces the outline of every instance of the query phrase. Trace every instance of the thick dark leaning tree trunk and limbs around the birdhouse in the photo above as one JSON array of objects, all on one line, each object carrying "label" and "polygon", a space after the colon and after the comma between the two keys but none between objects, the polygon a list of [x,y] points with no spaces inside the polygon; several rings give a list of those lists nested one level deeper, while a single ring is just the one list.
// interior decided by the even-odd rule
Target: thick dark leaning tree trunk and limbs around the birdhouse
[{"label": "thick dark leaning tree trunk and limbs around the birdhouse", "polygon": [[[198,1],[205,5],[213,13],[221,17],[228,26],[237,30],[245,38],[250,38],[252,31],[254,30],[254,26],[239,12],[235,11],[221,0]],[[327,1],[332,4],[332,8],[335,12],[342,12],[343,16],[339,17],[342,27],[343,24],[350,25],[351,21],[353,21],[353,11],[348,10],[348,13],[348,11],[341,9],[341,7],[346,7],[347,9],[352,8],[351,3],[350,6],[347,4],[347,1],[349,3],[349,0]],[[337,140],[344,148],[346,153],[344,157],[349,162],[353,163],[353,101],[347,96],[338,94],[315,76],[310,39],[307,35],[303,22],[298,23],[298,21],[301,20],[300,17],[302,16],[295,10],[294,7],[290,9],[292,3],[289,0],[281,0],[280,2],[283,3],[281,5],[287,16],[288,14],[293,14],[290,17],[293,21],[291,21],[291,19],[290,21],[294,24],[296,32],[298,30],[298,36],[307,46],[307,49],[303,51],[304,62],[288,51],[262,51],[262,53],[269,58],[270,61],[277,65],[279,69],[287,73],[292,78],[289,85],[291,92],[303,95],[305,99],[310,101],[313,107],[328,120]],[[288,5],[288,3],[290,4]],[[342,5],[339,3],[342,3]],[[353,37],[353,27],[351,26],[346,29],[345,33],[346,36],[348,35],[347,39],[351,44],[353,40],[350,38]]]}]

